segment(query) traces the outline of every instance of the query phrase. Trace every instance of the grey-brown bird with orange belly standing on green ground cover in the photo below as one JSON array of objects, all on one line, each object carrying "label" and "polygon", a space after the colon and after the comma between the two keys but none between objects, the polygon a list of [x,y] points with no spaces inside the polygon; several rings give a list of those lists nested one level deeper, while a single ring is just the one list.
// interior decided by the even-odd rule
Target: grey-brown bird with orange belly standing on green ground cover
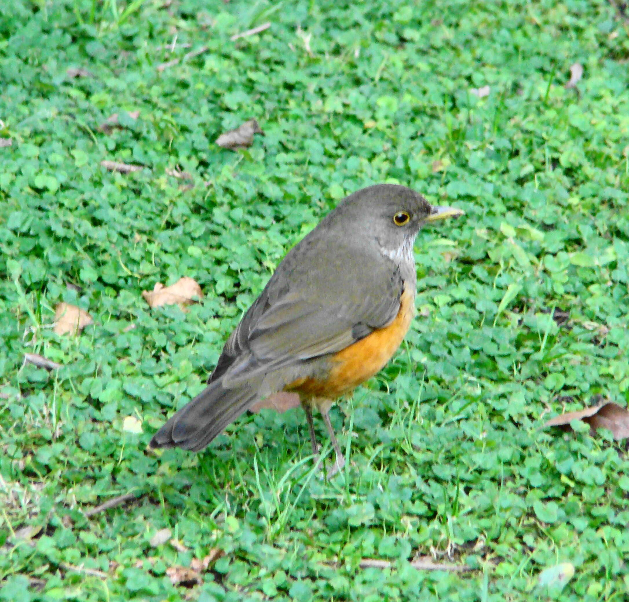
[{"label": "grey-brown bird with orange belly standing on green ground cover", "polygon": [[328,412],[394,355],[415,311],[413,245],[426,224],[464,212],[406,186],[378,184],[344,198],[279,263],[231,332],[206,389],[170,417],[150,448],[198,452],[243,412],[279,392],[299,395],[313,455],[313,410],[335,463],[345,458]]}]

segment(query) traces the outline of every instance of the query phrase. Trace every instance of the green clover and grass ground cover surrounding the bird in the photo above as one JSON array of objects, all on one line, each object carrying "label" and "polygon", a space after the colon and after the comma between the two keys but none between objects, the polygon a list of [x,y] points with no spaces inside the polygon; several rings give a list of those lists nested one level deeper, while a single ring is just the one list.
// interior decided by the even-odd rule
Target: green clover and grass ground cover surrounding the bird
[{"label": "green clover and grass ground cover surrounding the bird", "polygon": [[[4,4],[0,599],[625,599],[624,444],[540,428],[629,398],[629,37],[611,4]],[[250,149],[214,145],[248,118],[266,133]],[[467,215],[421,233],[406,343],[332,412],[347,469],[313,475],[298,411],[243,416],[200,455],[147,453],[287,249],[382,181]],[[184,275],[203,304],[148,309],[142,290]],[[54,334],[61,301],[95,324]],[[163,528],[187,551],[153,548]],[[216,547],[203,584],[171,584]],[[538,586],[562,562],[564,589]]]}]

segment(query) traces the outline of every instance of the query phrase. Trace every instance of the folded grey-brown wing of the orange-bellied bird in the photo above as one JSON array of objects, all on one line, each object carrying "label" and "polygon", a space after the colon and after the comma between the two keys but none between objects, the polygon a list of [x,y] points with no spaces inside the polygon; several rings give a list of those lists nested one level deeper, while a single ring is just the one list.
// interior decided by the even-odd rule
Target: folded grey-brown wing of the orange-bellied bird
[{"label": "folded grey-brown wing of the orange-bellied bird", "polygon": [[234,386],[270,370],[336,353],[387,326],[403,279],[377,249],[308,240],[292,249],[231,334],[208,382]]}]

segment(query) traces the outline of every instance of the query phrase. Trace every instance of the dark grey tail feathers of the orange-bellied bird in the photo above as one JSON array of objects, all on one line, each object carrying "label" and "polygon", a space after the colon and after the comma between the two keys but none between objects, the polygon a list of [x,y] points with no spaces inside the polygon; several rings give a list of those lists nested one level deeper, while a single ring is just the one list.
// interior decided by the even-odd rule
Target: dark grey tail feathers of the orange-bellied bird
[{"label": "dark grey tail feathers of the orange-bellied bird", "polygon": [[[255,383],[257,384],[257,383]],[[156,447],[181,447],[198,452],[257,399],[257,387],[243,383],[225,389],[220,380],[199,393],[187,406],[170,417],[148,444]]]}]

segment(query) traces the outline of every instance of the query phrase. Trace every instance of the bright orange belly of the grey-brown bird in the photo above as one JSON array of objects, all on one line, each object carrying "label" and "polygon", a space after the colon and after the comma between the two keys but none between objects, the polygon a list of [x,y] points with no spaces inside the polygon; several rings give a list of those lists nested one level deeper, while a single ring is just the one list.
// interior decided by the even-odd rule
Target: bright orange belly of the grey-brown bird
[{"label": "bright orange belly of the grey-brown bird", "polygon": [[398,349],[413,319],[415,295],[404,290],[395,319],[356,343],[342,349],[331,358],[327,377],[299,378],[284,387],[294,391],[302,400],[337,399],[355,389],[379,372]]}]

